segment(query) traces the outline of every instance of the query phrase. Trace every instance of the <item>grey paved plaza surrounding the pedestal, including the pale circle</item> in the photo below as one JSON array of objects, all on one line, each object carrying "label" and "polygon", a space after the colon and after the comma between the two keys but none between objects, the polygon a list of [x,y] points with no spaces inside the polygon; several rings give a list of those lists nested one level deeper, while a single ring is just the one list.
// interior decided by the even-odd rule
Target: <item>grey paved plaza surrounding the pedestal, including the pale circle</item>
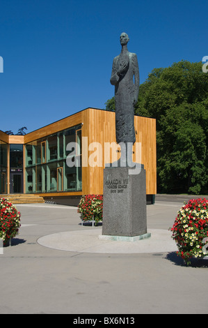
[{"label": "grey paved plaza surrounding the pedestal, including the pale circle", "polygon": [[[188,198],[187,198],[188,199]],[[99,239],[76,207],[19,204],[22,227],[3,248],[0,313],[208,313],[208,260],[177,257],[171,233],[186,196],[147,205],[150,239]]]}]

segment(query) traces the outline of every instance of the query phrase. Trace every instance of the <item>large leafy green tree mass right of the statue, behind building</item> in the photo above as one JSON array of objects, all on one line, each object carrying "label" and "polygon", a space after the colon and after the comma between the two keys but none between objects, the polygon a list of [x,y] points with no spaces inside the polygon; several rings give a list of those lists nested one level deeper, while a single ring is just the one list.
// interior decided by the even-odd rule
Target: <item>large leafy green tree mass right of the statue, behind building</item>
[{"label": "large leafy green tree mass right of the statue, behind building", "polygon": [[135,114],[157,119],[157,191],[207,193],[208,73],[202,63],[154,68]]}]

